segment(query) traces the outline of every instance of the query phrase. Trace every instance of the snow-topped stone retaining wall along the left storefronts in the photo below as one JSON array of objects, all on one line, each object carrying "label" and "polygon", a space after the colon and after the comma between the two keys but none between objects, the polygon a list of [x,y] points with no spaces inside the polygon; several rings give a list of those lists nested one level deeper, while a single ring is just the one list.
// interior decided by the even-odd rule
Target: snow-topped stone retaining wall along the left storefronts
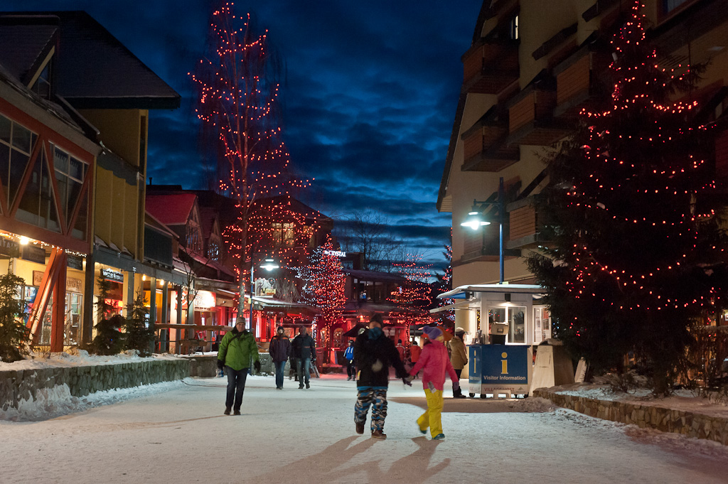
[{"label": "snow-topped stone retaining wall along the left storefronts", "polygon": [[74,397],[84,397],[102,390],[181,380],[189,376],[189,367],[188,360],[178,359],[0,371],[0,408],[17,408],[20,400],[31,400],[38,390],[63,384]]}]

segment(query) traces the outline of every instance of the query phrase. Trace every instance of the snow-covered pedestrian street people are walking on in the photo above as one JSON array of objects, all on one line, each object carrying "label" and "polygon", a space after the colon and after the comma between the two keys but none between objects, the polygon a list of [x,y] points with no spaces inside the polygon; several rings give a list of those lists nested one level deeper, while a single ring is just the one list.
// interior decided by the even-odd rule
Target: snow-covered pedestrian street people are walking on
[{"label": "snow-covered pedestrian street people are walking on", "polygon": [[[0,475],[14,483],[725,483],[728,448],[601,421],[549,402],[446,398],[446,440],[423,437],[419,380],[391,381],[387,440],[356,435],[355,382],[310,390],[249,377],[242,416],[224,378],[108,392],[41,421],[0,421]],[[462,382],[467,384],[466,381]],[[106,392],[101,392],[106,393]],[[451,394],[449,384],[446,396]],[[103,402],[103,398],[97,399]]]}]

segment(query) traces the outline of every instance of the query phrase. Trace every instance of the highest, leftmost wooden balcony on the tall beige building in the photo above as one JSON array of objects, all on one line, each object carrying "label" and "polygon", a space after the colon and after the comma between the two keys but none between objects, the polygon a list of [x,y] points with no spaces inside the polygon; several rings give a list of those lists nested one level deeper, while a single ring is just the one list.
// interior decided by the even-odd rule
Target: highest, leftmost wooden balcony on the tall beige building
[{"label": "highest, leftmost wooden balcony on the tall beige building", "polygon": [[488,39],[462,57],[462,91],[497,94],[518,81],[518,40]]}]

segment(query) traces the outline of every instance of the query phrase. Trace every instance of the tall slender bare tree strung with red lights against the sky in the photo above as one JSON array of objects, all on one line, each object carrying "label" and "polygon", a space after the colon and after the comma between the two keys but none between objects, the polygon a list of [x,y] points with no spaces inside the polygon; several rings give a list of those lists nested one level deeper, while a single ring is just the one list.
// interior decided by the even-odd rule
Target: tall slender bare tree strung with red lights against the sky
[{"label": "tall slender bare tree strung with red lights against the sky", "polygon": [[[240,317],[250,266],[275,255],[288,263],[295,245],[288,241],[307,230],[305,216],[290,210],[290,194],[310,183],[297,180],[288,169],[277,119],[277,62],[269,52],[267,31],[255,35],[250,15],[236,16],[233,7],[223,2],[213,12],[211,52],[191,78],[199,90],[197,115],[217,142],[219,191],[232,197],[239,211],[237,223],[223,235],[239,279]],[[269,245],[282,234],[285,241]]]}]

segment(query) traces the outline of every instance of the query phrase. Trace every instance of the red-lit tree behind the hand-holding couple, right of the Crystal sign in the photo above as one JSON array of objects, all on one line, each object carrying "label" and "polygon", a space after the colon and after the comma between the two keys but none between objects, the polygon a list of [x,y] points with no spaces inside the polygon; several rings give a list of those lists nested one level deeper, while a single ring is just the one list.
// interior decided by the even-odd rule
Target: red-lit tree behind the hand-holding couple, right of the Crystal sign
[{"label": "red-lit tree behind the hand-holding couple, right of the Crystal sign", "polygon": [[395,272],[403,277],[402,284],[389,294],[388,301],[397,305],[397,310],[389,313],[405,326],[407,341],[410,341],[410,326],[433,322],[428,309],[432,304],[430,285],[430,266],[422,264],[422,255],[408,254],[405,261],[392,263]]}]

